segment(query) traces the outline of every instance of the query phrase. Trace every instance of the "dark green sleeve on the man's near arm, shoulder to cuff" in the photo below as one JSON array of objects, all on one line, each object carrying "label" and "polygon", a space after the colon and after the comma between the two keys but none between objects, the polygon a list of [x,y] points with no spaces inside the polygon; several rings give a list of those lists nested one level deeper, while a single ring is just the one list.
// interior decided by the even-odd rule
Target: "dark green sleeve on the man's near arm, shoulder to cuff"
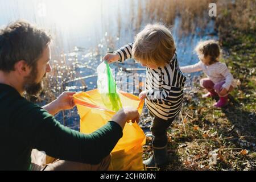
[{"label": "dark green sleeve on the man's near arm, shoulder to cuff", "polygon": [[92,134],[81,134],[61,125],[41,107],[30,104],[23,105],[13,117],[11,128],[19,142],[54,158],[73,162],[98,164],[122,138],[121,126],[113,121]]}]

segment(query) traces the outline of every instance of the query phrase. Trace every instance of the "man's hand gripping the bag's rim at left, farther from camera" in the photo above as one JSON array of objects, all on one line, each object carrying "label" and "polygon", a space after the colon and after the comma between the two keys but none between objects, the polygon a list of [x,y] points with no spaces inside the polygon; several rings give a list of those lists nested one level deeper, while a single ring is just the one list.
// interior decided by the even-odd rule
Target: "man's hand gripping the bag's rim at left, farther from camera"
[{"label": "man's hand gripping the bag's rim at left, farther from camera", "polygon": [[43,106],[43,109],[47,110],[48,113],[55,115],[61,110],[68,110],[75,107],[75,102],[73,100],[73,94],[76,92],[63,92],[56,100]]}]

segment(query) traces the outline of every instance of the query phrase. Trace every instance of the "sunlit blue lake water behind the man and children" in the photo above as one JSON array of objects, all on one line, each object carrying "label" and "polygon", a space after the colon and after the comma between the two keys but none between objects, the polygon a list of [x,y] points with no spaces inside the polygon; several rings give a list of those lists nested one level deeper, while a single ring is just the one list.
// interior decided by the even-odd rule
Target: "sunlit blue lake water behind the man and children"
[{"label": "sunlit blue lake water behind the man and children", "polygon": [[[0,0],[0,27],[16,19],[27,19],[50,30],[54,37],[51,64],[55,64],[57,57],[62,57],[68,65],[74,65],[75,71],[73,78],[66,77],[63,80],[64,76],[52,77],[53,80],[59,79],[61,85],[52,86],[51,90],[55,93],[60,88],[70,91],[91,90],[96,88],[96,68],[105,53],[133,42],[138,29],[141,30],[151,22],[145,16],[141,27],[134,27],[138,1]],[[180,66],[197,63],[197,56],[193,52],[196,44],[200,40],[217,39],[216,35],[210,35],[214,32],[214,22],[209,20],[203,34],[199,34],[198,27],[196,34],[181,38],[179,17],[174,22],[172,34]],[[142,77],[141,82],[144,81],[145,70],[140,64],[135,64],[134,60],[127,60],[122,65],[115,63],[111,67],[117,73],[116,76],[138,73]],[[125,91],[134,92],[130,87]],[[73,129],[79,129],[76,109],[59,113],[56,118]]]}]

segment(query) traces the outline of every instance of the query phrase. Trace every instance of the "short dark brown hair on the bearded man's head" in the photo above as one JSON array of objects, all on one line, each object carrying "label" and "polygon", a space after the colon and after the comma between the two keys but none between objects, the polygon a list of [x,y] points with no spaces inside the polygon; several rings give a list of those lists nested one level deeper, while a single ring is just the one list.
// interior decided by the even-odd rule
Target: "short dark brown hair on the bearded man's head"
[{"label": "short dark brown hair on the bearded man's head", "polygon": [[34,68],[51,37],[44,30],[18,20],[0,30],[0,70],[14,71],[14,65],[24,60]]}]

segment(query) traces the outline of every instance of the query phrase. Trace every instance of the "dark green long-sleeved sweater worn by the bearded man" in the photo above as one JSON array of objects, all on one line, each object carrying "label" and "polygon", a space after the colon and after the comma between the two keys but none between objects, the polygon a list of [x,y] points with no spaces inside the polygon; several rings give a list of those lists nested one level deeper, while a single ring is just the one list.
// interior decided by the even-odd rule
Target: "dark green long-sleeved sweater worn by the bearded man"
[{"label": "dark green long-sleeved sweater worn by the bearded man", "polygon": [[30,169],[33,148],[54,158],[98,164],[120,138],[122,128],[113,121],[92,134],[68,129],[11,86],[0,84],[0,170]]}]

